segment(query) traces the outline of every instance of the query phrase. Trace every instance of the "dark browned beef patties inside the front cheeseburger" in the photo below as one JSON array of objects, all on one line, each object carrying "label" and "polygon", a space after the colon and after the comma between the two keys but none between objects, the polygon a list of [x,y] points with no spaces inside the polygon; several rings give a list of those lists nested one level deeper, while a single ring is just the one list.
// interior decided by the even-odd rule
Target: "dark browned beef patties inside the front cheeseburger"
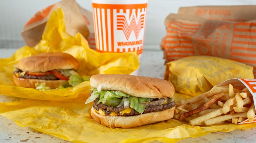
[{"label": "dark browned beef patties inside the front cheeseburger", "polygon": [[[156,112],[156,111],[162,111],[162,110],[166,110],[166,109],[170,109],[173,106],[175,106],[175,102],[167,102],[164,103],[164,101],[168,101],[171,100],[171,98],[162,98],[162,99],[154,99],[153,101],[150,102],[144,102],[142,104],[144,104],[146,106],[144,113],[150,113],[150,112]],[[120,111],[126,109],[124,108],[124,105],[120,106],[120,107],[116,107],[116,106],[108,106],[107,104],[103,104],[103,103],[98,103],[99,99],[96,99],[94,101],[93,107],[94,109],[98,110],[101,109],[105,112],[105,115],[109,115],[112,112],[117,113],[117,116],[133,116],[133,115],[139,115],[140,113],[132,110],[130,113],[124,113],[123,115],[121,115]]]}]

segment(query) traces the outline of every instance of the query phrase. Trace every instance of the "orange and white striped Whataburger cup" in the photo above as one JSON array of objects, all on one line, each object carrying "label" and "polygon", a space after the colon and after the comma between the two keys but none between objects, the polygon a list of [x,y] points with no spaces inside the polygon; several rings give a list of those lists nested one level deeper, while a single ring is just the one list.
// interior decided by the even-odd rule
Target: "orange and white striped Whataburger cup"
[{"label": "orange and white striped Whataburger cup", "polygon": [[96,50],[142,54],[148,0],[92,0]]}]

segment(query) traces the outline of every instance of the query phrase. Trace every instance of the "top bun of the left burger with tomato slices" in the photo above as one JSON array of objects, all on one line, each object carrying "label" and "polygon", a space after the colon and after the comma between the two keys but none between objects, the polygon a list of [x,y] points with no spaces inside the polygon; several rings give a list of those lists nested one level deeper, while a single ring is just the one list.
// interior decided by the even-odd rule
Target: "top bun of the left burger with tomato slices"
[{"label": "top bun of the left burger with tomato slices", "polygon": [[15,65],[22,71],[46,72],[55,69],[78,69],[79,62],[67,53],[42,53],[19,60]]}]

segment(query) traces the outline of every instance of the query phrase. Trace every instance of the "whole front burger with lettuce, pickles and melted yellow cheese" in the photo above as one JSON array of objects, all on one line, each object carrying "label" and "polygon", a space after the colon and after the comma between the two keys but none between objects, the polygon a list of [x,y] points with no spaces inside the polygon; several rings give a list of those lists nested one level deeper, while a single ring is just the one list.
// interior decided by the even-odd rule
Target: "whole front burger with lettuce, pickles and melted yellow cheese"
[{"label": "whole front burger with lettuce, pickles and melted yellow cheese", "polygon": [[[169,81],[124,74],[97,74],[90,79],[91,116],[110,128],[131,128],[173,118],[174,87]],[[85,104],[86,104],[85,103]]]}]

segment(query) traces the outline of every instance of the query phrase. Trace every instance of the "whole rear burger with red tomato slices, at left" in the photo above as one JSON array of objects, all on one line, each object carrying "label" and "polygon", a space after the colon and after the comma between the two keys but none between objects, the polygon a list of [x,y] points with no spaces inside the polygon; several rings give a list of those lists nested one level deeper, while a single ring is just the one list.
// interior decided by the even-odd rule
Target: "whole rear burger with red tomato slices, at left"
[{"label": "whole rear burger with red tomato slices, at left", "polygon": [[37,54],[14,65],[13,81],[18,86],[37,89],[42,85],[50,89],[68,87],[78,78],[74,70],[79,66],[77,59],[67,53]]}]

